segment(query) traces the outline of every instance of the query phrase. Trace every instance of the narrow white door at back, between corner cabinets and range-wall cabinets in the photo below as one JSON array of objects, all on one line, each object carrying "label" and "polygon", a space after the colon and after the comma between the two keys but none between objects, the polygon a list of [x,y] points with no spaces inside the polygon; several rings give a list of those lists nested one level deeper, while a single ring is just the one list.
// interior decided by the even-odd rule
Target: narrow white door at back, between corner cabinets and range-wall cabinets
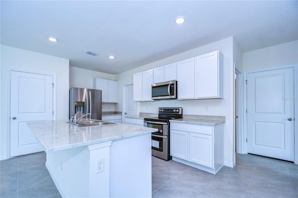
[{"label": "narrow white door at back, between corner cabinets and range-wall cabinets", "polygon": [[137,115],[137,103],[134,102],[134,85],[127,85],[124,88],[122,123],[125,123],[126,115]]}]

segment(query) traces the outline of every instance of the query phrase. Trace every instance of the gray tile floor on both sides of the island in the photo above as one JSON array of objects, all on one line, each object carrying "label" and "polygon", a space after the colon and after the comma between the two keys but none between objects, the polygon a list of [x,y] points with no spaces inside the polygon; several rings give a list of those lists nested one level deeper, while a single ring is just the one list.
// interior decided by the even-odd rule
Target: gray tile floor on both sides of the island
[{"label": "gray tile floor on both sides of the island", "polygon": [[[45,161],[44,152],[0,161],[0,197],[61,197]],[[236,163],[213,175],[152,157],[152,197],[298,197],[298,165],[240,154]]]}]

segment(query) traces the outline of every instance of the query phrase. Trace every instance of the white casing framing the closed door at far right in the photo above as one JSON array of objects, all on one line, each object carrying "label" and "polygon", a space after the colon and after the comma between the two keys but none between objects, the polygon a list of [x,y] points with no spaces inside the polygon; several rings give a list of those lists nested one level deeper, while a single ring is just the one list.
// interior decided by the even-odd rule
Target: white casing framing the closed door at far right
[{"label": "white casing framing the closed door at far right", "polygon": [[284,65],[284,66],[277,66],[277,67],[270,67],[270,68],[264,68],[264,69],[256,69],[251,71],[245,71],[243,72],[243,153],[247,154],[247,86],[246,86],[246,80],[247,80],[247,74],[249,73],[255,73],[255,72],[264,72],[264,71],[270,71],[275,69],[285,69],[285,68],[294,68],[294,163],[298,164],[298,64],[292,64],[292,65]]}]

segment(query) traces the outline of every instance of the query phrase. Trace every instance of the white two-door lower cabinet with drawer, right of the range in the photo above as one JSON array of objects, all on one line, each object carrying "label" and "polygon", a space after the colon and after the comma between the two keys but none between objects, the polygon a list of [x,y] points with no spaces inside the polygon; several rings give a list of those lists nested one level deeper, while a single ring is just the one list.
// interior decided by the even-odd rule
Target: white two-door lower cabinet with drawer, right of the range
[{"label": "white two-door lower cabinet with drawer, right of the range", "polygon": [[224,165],[224,124],[171,122],[173,160],[215,174]]}]

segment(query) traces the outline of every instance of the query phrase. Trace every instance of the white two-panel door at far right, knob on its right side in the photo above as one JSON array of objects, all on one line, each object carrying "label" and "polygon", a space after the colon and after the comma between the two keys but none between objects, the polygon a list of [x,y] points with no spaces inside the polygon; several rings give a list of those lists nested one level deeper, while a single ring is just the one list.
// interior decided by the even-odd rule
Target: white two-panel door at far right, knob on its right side
[{"label": "white two-panel door at far right, knob on its right side", "polygon": [[294,161],[294,69],[247,74],[247,152]]}]

